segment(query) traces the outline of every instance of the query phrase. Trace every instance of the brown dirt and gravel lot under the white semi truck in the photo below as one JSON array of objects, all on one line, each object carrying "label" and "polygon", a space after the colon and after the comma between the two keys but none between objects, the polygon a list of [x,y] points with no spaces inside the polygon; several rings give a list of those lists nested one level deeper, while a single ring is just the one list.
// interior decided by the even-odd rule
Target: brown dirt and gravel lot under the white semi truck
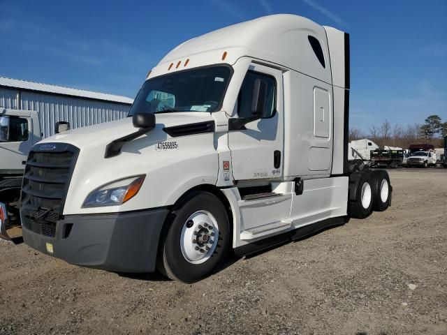
[{"label": "brown dirt and gravel lot under the white semi truck", "polygon": [[0,242],[0,334],[447,334],[447,170],[388,171],[388,211],[193,285]]}]

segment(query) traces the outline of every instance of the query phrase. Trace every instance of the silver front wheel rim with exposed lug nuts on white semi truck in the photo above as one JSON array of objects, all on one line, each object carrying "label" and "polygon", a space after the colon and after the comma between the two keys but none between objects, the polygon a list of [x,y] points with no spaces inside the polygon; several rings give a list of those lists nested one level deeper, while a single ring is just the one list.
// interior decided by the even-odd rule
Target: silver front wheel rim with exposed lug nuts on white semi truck
[{"label": "silver front wheel rim with exposed lug nuts on white semi truck", "polygon": [[184,259],[191,264],[206,262],[217,248],[219,225],[209,211],[196,211],[186,219],[180,236]]}]

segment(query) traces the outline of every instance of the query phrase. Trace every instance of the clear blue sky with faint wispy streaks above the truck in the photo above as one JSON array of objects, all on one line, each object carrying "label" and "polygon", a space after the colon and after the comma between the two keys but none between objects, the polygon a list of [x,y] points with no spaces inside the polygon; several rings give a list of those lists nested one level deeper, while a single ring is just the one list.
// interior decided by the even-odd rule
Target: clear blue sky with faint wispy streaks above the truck
[{"label": "clear blue sky with faint wispy streaks above the truck", "polygon": [[351,34],[351,126],[447,121],[444,0],[0,0],[0,75],[133,98],[175,45],[272,13]]}]

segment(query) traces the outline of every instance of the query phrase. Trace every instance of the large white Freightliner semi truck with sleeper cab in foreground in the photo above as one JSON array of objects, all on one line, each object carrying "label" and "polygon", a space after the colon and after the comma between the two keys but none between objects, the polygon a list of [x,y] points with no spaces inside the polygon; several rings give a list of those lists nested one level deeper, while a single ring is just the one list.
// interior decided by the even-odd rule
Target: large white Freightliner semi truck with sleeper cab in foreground
[{"label": "large white Freightliner semi truck with sleeper cab in foreground", "polygon": [[74,265],[191,283],[390,205],[348,162],[349,35],[270,15],[193,38],[129,117],[49,137],[27,160],[26,244]]}]

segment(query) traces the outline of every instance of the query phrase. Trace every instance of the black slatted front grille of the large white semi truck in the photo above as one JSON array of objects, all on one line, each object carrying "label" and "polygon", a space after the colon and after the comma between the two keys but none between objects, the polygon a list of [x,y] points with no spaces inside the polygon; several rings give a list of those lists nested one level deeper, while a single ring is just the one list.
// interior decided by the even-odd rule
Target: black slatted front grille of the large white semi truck
[{"label": "black slatted front grille of the large white semi truck", "polygon": [[24,228],[55,236],[78,152],[78,148],[64,143],[54,144],[50,152],[31,150],[22,185]]}]

